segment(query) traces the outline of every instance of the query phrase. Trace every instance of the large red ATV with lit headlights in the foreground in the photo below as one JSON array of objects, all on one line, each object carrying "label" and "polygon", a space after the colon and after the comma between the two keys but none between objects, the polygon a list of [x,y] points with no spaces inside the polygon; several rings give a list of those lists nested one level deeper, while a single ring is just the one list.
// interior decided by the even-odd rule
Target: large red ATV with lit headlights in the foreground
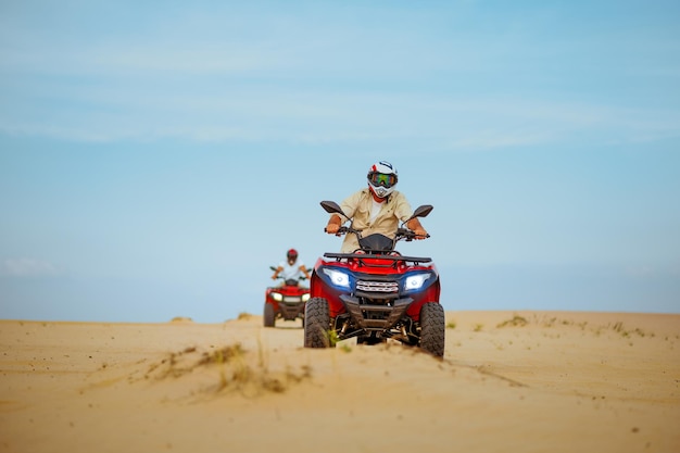
[{"label": "large red ATV with lit headlights in the foreground", "polygon": [[[344,215],[332,201],[323,201],[322,206]],[[431,211],[431,205],[419,206],[411,218]],[[339,235],[356,235],[360,249],[325,253],[317,260],[304,314],[305,348],[333,348],[352,337],[357,344],[391,338],[438,357],[444,355],[439,273],[431,259],[404,256],[394,250],[398,241],[415,238],[404,225],[394,239],[377,234],[363,237],[360,230],[340,227]]]}]

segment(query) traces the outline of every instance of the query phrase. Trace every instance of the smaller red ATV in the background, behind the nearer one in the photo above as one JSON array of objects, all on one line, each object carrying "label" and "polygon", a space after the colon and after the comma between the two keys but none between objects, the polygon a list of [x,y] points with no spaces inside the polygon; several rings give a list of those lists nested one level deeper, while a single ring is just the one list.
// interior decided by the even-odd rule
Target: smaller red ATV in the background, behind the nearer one
[{"label": "smaller red ATV in the background, behind the nearer one", "polygon": [[[269,268],[276,270],[274,266]],[[298,279],[290,278],[284,280],[281,286],[267,288],[264,295],[264,327],[274,327],[276,319],[279,318],[285,320],[301,318],[304,325],[304,304],[307,299],[310,288],[300,286]]]}]

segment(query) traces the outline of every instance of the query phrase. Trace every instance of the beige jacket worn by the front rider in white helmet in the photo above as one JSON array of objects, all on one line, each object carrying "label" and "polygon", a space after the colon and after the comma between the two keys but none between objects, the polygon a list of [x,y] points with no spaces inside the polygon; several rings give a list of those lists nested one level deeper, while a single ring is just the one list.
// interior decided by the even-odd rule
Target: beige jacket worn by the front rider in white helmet
[{"label": "beige jacket worn by the front rider in white helmet", "polygon": [[[373,196],[368,188],[362,189],[340,203],[342,212],[344,212],[349,218],[342,218],[344,222],[352,221],[352,228],[362,230],[364,237],[378,232],[389,238],[394,238],[396,228],[399,228],[400,222],[406,221],[413,215],[413,210],[406,197],[399,192],[393,191],[383,201],[380,206],[380,212],[376,219],[370,222],[370,209],[373,206]],[[358,240],[356,235],[350,232],[345,235],[342,242],[341,253],[352,253],[358,249]]]}]

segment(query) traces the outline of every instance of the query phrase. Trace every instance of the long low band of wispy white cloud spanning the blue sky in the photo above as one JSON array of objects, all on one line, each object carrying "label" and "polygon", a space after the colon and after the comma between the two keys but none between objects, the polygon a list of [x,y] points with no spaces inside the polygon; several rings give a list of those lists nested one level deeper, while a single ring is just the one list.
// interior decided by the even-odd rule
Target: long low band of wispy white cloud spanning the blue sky
[{"label": "long low band of wispy white cloud spanning the blue sky", "polygon": [[[40,92],[40,88],[32,90]],[[64,87],[64,105],[0,109],[0,131],[77,141],[375,142],[418,140],[436,148],[654,141],[680,136],[673,111],[617,109],[538,99],[268,88],[193,87],[173,80]],[[11,96],[10,96],[11,97]],[[22,104],[21,102],[14,104]],[[89,109],[79,110],[73,103]],[[12,103],[12,102],[10,102]],[[71,103],[71,104],[70,104]],[[51,114],[53,109],[59,115]],[[45,119],[49,118],[49,119]]]}]

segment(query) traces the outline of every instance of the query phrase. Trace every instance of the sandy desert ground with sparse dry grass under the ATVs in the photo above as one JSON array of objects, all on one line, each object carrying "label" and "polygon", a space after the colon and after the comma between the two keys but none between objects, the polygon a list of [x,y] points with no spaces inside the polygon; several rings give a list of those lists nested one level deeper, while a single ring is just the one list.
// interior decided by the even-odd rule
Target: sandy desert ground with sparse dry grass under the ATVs
[{"label": "sandy desert ground with sparse dry grass under the ATVs", "polygon": [[0,320],[0,452],[680,452],[680,315],[446,322],[442,361],[260,316]]}]

